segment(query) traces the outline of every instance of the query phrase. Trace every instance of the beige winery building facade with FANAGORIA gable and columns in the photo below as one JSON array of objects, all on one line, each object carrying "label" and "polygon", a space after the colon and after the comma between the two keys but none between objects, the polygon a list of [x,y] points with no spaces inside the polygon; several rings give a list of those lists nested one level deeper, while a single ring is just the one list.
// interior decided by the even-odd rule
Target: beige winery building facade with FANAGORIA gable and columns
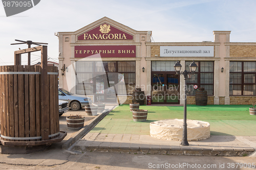
[{"label": "beige winery building facade with FANAGORIA gable and columns", "polygon": [[195,60],[198,69],[187,80],[187,104],[195,104],[198,87],[207,91],[207,104],[251,104],[256,99],[256,43],[230,42],[230,32],[214,31],[214,42],[151,42],[152,31],[103,17],[58,33],[59,87],[94,101],[125,104],[139,87],[153,104],[183,104],[184,77],[173,66],[179,60],[188,70]]}]

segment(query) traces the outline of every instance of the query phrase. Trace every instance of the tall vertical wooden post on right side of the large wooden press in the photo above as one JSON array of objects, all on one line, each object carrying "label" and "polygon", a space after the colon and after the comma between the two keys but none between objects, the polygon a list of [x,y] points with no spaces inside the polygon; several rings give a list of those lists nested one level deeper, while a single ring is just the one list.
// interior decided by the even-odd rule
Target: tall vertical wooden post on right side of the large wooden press
[{"label": "tall vertical wooden post on right side of the large wooden press", "polygon": [[49,139],[49,82],[47,75],[47,46],[41,45],[41,135],[42,140]]}]

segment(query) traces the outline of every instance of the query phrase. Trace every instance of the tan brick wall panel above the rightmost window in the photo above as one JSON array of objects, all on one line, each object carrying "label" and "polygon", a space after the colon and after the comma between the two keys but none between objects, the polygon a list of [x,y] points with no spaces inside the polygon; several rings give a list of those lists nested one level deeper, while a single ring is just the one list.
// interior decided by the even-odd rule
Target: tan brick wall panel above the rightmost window
[{"label": "tan brick wall panel above the rightmost window", "polygon": [[254,45],[230,45],[229,57],[256,57]]}]

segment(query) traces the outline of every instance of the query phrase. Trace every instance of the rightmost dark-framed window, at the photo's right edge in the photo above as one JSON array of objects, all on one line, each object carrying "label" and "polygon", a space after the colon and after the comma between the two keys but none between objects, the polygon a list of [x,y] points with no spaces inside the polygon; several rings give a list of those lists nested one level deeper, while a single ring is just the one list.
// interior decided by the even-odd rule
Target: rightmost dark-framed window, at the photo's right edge
[{"label": "rightmost dark-framed window, at the photo's right edge", "polygon": [[229,62],[229,95],[255,95],[256,62]]}]

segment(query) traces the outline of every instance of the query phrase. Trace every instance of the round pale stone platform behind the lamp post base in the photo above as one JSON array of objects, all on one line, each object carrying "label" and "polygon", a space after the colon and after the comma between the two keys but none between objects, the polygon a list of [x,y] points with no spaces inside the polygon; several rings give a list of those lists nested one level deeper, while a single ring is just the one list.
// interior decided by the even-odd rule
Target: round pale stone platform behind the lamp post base
[{"label": "round pale stone platform behind the lamp post base", "polygon": [[[158,139],[182,140],[183,119],[166,119],[150,123],[150,135]],[[204,140],[210,137],[210,124],[187,119],[187,140]]]}]

